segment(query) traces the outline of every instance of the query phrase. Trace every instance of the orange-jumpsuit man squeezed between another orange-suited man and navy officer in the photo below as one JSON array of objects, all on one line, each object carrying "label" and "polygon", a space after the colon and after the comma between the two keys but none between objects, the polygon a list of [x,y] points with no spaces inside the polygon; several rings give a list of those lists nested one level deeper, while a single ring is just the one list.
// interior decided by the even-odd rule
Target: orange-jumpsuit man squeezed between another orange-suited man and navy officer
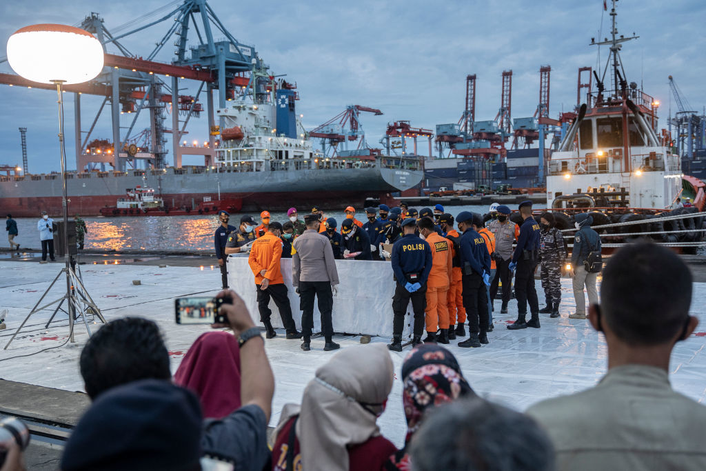
[{"label": "orange-jumpsuit man squeezed between another orange-suited man and navy officer", "polygon": [[[466,322],[466,308],[463,307],[463,285],[461,273],[461,235],[453,228],[453,216],[448,213],[443,213],[439,217],[439,226],[446,234],[445,237],[450,241],[451,246],[451,270],[452,278],[448,287],[448,338],[455,340],[456,335],[459,337],[466,336],[464,324]],[[458,325],[456,325],[458,323]]]}]

